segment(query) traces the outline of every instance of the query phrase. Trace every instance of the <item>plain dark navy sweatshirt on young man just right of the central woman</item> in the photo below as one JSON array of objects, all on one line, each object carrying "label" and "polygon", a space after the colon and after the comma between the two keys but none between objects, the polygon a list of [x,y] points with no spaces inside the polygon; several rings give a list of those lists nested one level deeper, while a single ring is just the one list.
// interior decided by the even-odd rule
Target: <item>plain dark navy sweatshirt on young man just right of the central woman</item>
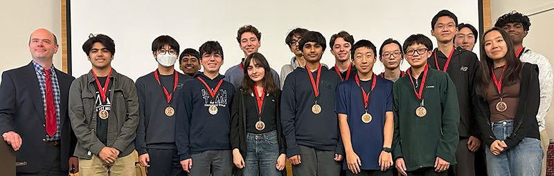
[{"label": "plain dark navy sweatshirt on young man just right of the central woman", "polygon": [[[312,72],[317,79],[317,71]],[[298,145],[343,155],[339,121],[334,112],[334,94],[341,78],[334,70],[321,67],[319,99],[321,113],[312,113],[314,89],[306,69],[298,67],[285,79],[281,95],[281,124],[287,142],[287,157],[300,154]]]}]

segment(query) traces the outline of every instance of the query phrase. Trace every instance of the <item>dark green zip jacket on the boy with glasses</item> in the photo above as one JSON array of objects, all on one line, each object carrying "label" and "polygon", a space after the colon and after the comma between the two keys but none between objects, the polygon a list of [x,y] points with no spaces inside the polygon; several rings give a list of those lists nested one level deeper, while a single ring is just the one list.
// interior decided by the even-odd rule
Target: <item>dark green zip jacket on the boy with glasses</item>
[{"label": "dark green zip jacket on the boy with glasses", "polygon": [[410,79],[401,77],[393,86],[393,158],[403,157],[408,171],[434,167],[436,157],[456,164],[460,110],[454,83],[446,72],[429,69],[422,93],[427,115],[418,117],[415,109],[421,101]]}]

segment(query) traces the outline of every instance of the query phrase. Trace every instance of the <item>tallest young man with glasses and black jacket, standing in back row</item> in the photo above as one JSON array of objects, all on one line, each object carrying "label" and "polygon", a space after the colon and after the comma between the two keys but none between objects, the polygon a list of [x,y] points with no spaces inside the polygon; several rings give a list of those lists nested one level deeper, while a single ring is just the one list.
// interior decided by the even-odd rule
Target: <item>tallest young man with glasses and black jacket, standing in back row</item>
[{"label": "tallest young man with glasses and black jacket, standing in back row", "polygon": [[431,52],[429,67],[447,72],[456,86],[460,106],[460,141],[456,149],[457,165],[452,168],[455,175],[475,175],[475,151],[481,146],[479,131],[476,128],[476,115],[472,97],[474,83],[479,70],[479,60],[475,53],[461,47],[454,48],[454,37],[458,33],[458,18],[448,10],[441,10],[431,20],[431,35],[436,38],[438,47]]}]

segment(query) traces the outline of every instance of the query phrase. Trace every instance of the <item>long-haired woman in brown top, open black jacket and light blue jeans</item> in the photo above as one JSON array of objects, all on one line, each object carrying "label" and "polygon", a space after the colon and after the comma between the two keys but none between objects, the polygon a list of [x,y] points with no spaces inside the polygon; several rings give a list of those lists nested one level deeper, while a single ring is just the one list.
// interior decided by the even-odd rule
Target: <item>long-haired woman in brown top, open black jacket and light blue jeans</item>
[{"label": "long-haired woman in brown top, open black jacket and light blue jeans", "polygon": [[481,81],[474,99],[486,144],[488,175],[539,175],[543,157],[537,124],[539,70],[515,56],[500,28],[483,35]]}]

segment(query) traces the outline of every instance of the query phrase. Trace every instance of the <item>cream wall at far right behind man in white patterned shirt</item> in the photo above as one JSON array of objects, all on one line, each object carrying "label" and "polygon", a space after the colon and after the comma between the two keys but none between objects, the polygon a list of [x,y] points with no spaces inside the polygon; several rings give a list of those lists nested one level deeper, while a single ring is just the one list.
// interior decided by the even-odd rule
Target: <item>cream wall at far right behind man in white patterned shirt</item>
[{"label": "cream wall at far right behind man in white patterned shirt", "polygon": [[[491,0],[490,3],[492,25],[498,17],[512,10],[517,10],[523,14],[532,14],[554,7],[553,1],[544,0]],[[530,16],[529,19],[531,26],[527,37],[524,39],[524,46],[544,55],[554,66],[554,50],[552,50],[551,43],[554,39],[552,35],[554,10],[535,14]],[[551,139],[554,138],[554,110],[552,107],[551,105],[550,111],[546,115],[546,132]]]}]

